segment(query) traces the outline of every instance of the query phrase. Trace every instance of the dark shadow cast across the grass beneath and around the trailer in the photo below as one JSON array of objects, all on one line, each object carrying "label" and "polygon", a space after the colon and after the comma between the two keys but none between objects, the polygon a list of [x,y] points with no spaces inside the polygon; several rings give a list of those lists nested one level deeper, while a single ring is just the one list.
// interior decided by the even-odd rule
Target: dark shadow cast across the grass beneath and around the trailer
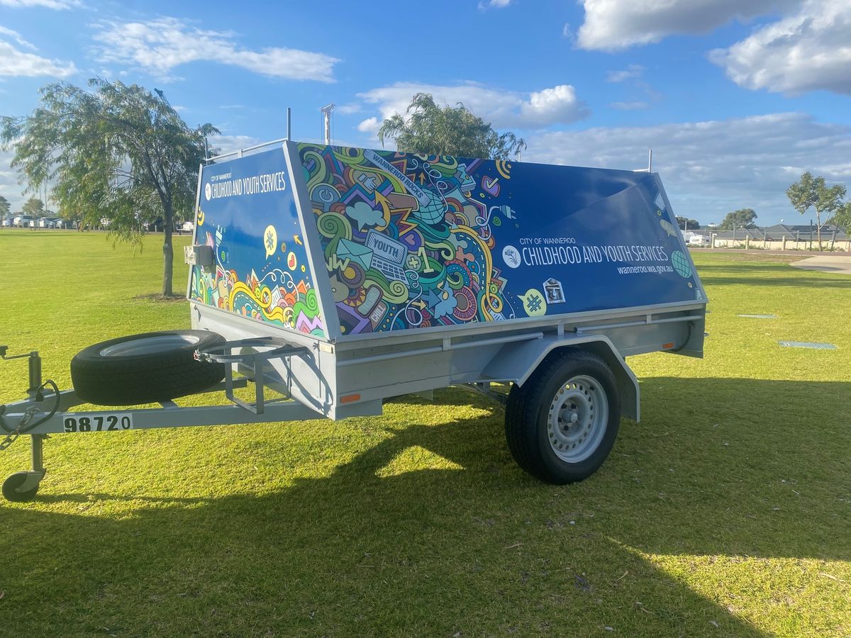
[{"label": "dark shadow cast across the grass beneath and around the trailer", "polygon": [[481,415],[406,424],[428,405],[407,398],[386,419],[327,424],[383,432],[278,493],[148,496],[117,518],[50,511],[73,494],[4,507],[3,623],[15,635],[761,635],[726,608],[747,572],[717,575],[716,602],[648,556],[851,558],[848,386],[659,378],[643,395],[643,424],[625,421],[603,470],[568,487],[518,470],[501,409],[450,389],[442,409]]}]

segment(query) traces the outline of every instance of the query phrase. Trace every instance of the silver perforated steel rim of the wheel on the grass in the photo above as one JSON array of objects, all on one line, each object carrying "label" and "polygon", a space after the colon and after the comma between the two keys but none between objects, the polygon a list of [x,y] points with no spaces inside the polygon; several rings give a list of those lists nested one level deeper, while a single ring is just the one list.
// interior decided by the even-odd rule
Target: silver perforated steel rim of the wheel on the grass
[{"label": "silver perforated steel rim of the wheel on the grass", "polygon": [[606,390],[592,377],[568,379],[552,397],[546,436],[565,463],[580,463],[600,446],[608,424]]}]

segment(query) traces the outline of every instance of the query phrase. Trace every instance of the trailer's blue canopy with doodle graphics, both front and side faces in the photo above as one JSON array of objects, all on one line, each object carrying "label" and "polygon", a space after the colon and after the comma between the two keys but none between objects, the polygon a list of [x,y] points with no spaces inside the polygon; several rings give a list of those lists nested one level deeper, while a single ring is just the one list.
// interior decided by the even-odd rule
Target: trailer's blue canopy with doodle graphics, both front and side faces
[{"label": "trailer's blue canopy with doodle graphics, both front and side faces", "polygon": [[293,144],[200,186],[190,299],[318,338],[700,299],[646,173]]}]

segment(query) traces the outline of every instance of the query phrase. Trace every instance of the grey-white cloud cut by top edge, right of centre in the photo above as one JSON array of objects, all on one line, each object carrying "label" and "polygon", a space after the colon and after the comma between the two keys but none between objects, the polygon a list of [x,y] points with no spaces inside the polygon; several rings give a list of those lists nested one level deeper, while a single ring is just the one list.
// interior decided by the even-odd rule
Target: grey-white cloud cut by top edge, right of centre
[{"label": "grey-white cloud cut by top edge, right of centre", "polygon": [[747,20],[800,0],[580,0],[585,22],[580,48],[614,51],[659,42],[675,33],[708,33],[730,20]]}]

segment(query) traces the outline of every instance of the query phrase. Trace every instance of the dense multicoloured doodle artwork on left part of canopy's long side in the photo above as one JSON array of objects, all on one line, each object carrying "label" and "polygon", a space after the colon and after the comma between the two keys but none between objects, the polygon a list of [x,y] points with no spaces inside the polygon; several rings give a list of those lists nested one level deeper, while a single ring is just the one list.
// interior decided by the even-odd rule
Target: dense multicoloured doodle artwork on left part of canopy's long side
[{"label": "dense multicoloured doodle artwork on left part of canopy's long side", "polygon": [[[479,160],[309,144],[299,154],[343,334],[517,316],[493,256],[494,225],[514,211],[486,201],[509,165],[486,186],[471,176]],[[479,186],[488,195],[474,197]]]}]

